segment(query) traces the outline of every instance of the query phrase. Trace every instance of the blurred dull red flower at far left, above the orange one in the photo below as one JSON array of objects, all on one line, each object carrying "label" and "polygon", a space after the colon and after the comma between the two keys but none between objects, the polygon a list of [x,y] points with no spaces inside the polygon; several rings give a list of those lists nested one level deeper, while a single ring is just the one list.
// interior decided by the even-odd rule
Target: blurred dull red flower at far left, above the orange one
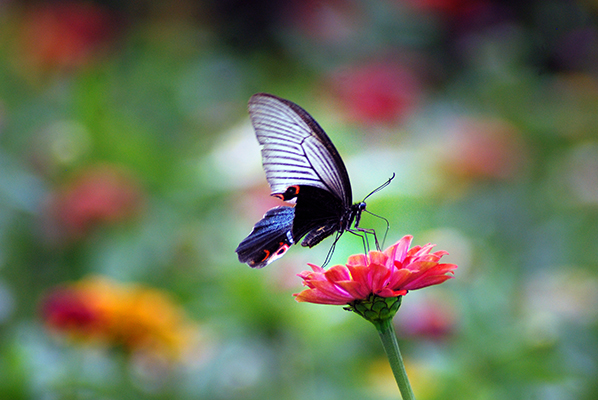
[{"label": "blurred dull red flower at far left, above the orange one", "polygon": [[59,236],[79,237],[101,223],[123,221],[142,206],[138,182],[112,166],[92,167],[50,196],[50,224]]}]

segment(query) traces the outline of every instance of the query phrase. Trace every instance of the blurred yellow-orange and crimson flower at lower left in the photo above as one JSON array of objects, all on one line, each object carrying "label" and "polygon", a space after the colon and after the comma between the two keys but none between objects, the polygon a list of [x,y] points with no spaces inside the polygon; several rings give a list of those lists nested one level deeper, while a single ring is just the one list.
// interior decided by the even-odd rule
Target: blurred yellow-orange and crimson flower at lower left
[{"label": "blurred yellow-orange and crimson flower at lower left", "polygon": [[181,359],[198,336],[197,325],[166,292],[98,276],[55,288],[41,314],[52,332],[171,360]]}]

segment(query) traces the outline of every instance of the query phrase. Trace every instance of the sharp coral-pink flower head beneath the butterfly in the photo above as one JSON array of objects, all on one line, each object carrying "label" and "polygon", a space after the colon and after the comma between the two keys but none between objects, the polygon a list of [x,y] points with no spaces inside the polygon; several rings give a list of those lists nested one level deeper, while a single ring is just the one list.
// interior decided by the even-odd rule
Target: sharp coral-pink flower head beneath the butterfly
[{"label": "sharp coral-pink flower head beneath the butterfly", "polygon": [[404,236],[384,252],[370,251],[349,257],[346,266],[335,265],[324,270],[309,264],[312,271],[298,276],[308,287],[295,294],[299,302],[317,304],[350,304],[371,295],[398,297],[409,290],[438,285],[451,278],[455,264],[440,264],[446,251],[430,253],[433,244],[409,249],[413,236]]}]

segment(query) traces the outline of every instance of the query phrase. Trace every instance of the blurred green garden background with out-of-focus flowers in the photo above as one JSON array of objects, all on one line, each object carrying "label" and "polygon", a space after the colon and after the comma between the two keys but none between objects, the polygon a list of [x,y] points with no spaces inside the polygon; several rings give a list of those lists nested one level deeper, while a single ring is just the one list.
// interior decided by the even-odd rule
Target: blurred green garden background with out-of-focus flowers
[{"label": "blurred green garden background with out-of-focus flowers", "polygon": [[[598,398],[595,0],[0,1],[0,398],[396,399],[373,326],[237,244],[247,101],[310,112],[356,201],[455,279],[395,318],[416,397]],[[362,226],[383,232],[365,215]],[[332,263],[361,251],[344,235]]]}]

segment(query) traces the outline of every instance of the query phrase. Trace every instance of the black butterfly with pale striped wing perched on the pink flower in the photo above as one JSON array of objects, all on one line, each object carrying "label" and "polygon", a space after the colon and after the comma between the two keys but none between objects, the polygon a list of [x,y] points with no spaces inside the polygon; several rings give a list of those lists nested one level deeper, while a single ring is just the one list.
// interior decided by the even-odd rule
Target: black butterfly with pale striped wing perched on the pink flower
[{"label": "black butterfly with pale striped wing perched on the pink flower", "polygon": [[265,267],[303,236],[301,245],[313,247],[333,233],[337,240],[345,231],[373,233],[359,228],[365,202],[352,204],[345,164],[307,111],[258,93],[249,100],[249,116],[272,196],[296,205],[275,207],[264,215],[235,250],[240,262]]}]

